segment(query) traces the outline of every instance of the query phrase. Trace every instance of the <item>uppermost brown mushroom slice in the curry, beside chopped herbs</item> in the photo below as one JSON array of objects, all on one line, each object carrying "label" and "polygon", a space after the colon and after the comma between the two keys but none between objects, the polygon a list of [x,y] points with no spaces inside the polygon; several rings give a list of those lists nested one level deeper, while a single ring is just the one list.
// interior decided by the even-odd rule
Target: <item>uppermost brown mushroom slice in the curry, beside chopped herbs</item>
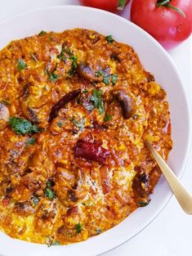
[{"label": "uppermost brown mushroom slice in the curry, beside chopped herbs", "polygon": [[96,71],[92,70],[92,68],[88,65],[79,64],[77,68],[77,73],[83,79],[91,80],[94,82],[102,82],[102,76],[96,76]]}]

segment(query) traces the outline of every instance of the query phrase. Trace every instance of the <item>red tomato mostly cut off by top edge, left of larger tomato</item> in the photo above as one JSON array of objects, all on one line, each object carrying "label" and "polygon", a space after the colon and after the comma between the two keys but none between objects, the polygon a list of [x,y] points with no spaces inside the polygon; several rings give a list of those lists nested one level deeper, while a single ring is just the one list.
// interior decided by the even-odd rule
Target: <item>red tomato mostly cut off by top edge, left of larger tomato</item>
[{"label": "red tomato mostly cut off by top edge, left of larger tomato", "polygon": [[105,11],[113,12],[117,11],[118,3],[123,4],[125,2],[124,5],[126,5],[129,1],[130,0],[79,0],[79,2],[83,4],[83,6],[94,7]]}]

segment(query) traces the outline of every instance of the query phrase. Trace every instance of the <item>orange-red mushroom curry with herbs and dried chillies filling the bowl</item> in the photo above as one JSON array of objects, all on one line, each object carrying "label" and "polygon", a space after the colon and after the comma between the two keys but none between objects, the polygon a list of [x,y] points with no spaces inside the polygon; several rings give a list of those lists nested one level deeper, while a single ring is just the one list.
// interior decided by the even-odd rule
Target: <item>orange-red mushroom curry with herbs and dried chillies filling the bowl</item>
[{"label": "orange-red mushroom curry with herbs and dried chillies filling the bowl", "polygon": [[166,92],[132,47],[87,29],[12,41],[0,52],[0,229],[65,245],[114,227],[159,181],[144,140],[167,160]]}]

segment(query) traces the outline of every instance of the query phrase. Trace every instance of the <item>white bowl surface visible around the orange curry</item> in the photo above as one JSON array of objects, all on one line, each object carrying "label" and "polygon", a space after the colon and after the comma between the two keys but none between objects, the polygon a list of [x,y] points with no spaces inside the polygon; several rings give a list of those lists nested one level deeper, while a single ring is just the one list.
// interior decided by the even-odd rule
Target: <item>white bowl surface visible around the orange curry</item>
[{"label": "white bowl surface visible around the orange curry", "polygon": [[[74,28],[95,29],[101,34],[112,34],[118,42],[131,45],[138,53],[145,70],[154,74],[155,79],[167,92],[172,118],[173,150],[168,164],[181,177],[190,148],[190,106],[185,96],[181,79],[167,52],[144,30],[119,16],[89,7],[49,7],[20,14],[0,25],[0,48],[16,38],[38,34],[40,30],[63,31]],[[151,196],[151,203],[137,209],[118,226],[74,245],[35,245],[13,240],[0,232],[0,255],[2,256],[93,256],[123,244],[126,240],[146,227],[163,209],[172,192],[162,177]],[[147,238],[146,238],[147,239]]]}]

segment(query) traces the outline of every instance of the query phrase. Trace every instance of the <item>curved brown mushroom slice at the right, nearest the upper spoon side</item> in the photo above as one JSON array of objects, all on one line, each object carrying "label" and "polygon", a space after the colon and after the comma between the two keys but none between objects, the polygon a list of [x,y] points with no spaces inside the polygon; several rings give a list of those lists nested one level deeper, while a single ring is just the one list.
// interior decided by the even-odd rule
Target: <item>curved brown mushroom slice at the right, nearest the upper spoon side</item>
[{"label": "curved brown mushroom slice at the right, nearest the upper spoon side", "polygon": [[124,91],[113,91],[114,97],[120,103],[123,111],[123,119],[130,119],[136,114],[136,102]]}]

